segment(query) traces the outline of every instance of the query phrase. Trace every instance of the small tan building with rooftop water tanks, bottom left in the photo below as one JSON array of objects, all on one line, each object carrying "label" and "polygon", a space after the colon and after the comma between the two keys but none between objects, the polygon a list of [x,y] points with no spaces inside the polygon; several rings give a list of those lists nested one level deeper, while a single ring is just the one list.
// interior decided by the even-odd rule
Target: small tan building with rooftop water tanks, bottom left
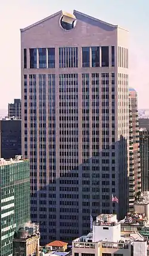
[{"label": "small tan building with rooftop water tanks, bottom left", "polygon": [[[13,256],[39,256],[39,227],[35,229],[35,225],[30,224],[29,227],[19,228],[14,234],[13,239]],[[33,230],[35,229],[35,231]]]}]

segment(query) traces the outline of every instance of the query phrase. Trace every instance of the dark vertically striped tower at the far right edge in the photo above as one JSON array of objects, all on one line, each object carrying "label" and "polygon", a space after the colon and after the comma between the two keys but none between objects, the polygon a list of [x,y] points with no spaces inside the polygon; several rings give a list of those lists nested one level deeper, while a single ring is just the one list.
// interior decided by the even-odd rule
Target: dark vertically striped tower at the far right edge
[{"label": "dark vertically striped tower at the far right edge", "polygon": [[142,191],[149,191],[149,130],[139,130]]}]

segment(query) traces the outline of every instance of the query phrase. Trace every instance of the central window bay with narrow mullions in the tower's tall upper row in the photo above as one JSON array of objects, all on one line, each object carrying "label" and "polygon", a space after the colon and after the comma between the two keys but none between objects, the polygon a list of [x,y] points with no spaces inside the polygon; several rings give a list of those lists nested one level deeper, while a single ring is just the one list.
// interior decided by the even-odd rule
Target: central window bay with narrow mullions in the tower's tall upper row
[{"label": "central window bay with narrow mullions in the tower's tall upper row", "polygon": [[59,48],[59,68],[77,68],[77,47]]}]

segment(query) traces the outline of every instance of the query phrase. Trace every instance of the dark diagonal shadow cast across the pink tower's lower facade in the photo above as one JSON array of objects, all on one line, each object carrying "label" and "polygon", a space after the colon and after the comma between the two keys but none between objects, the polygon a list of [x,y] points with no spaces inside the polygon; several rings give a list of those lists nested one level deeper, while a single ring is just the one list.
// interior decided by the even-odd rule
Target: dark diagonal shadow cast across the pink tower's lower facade
[{"label": "dark diagonal shadow cast across the pink tower's lower facade", "polygon": [[[120,136],[120,141],[72,170],[64,167],[60,178],[53,177],[49,185],[42,184],[40,190],[31,194],[31,219],[40,224],[41,245],[52,240],[71,243],[89,233],[91,215],[93,220],[99,214],[112,212],[119,220],[125,217],[129,205],[127,145]],[[112,194],[119,203],[112,203]]]}]

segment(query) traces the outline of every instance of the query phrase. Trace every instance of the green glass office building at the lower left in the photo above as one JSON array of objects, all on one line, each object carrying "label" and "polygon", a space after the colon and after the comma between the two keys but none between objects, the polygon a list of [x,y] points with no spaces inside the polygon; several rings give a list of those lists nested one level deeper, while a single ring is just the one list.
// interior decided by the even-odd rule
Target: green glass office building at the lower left
[{"label": "green glass office building at the lower left", "polygon": [[0,255],[13,255],[17,228],[30,220],[29,160],[0,159]]}]

